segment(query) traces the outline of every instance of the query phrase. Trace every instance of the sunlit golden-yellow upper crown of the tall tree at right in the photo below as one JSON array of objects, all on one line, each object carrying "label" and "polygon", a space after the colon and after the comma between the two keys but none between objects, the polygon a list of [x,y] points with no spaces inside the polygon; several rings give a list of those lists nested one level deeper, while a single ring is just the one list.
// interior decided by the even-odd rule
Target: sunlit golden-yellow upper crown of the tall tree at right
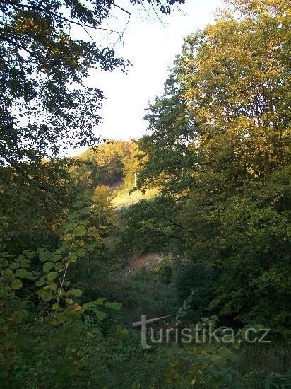
[{"label": "sunlit golden-yellow upper crown of the tall tree at right", "polygon": [[186,39],[178,66],[205,153],[213,163],[219,153],[234,180],[261,178],[290,158],[290,7],[232,5],[233,12]]}]

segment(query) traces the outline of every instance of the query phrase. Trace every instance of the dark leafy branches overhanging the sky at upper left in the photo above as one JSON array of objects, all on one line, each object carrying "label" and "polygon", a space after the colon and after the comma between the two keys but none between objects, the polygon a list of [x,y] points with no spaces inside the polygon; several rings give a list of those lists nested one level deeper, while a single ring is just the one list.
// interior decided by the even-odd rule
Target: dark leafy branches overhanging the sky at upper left
[{"label": "dark leafy branches overhanging the sky at upper left", "polygon": [[[154,3],[170,13],[183,1]],[[114,0],[1,1],[0,163],[35,161],[56,155],[61,146],[98,141],[93,127],[104,96],[84,79],[95,67],[126,71],[126,60],[90,37],[90,30],[110,31],[102,23],[114,8],[129,14]],[[88,39],[76,39],[74,26]]]}]

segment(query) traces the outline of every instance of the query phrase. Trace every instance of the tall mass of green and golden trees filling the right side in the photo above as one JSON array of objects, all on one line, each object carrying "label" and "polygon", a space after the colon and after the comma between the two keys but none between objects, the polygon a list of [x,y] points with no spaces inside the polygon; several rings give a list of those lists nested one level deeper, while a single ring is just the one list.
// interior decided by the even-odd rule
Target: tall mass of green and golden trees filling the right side
[{"label": "tall mass of green and golden trees filling the right side", "polygon": [[290,26],[288,1],[230,2],[186,37],[139,142],[139,185],[179,204],[184,255],[218,275],[208,309],[273,328],[290,326]]}]

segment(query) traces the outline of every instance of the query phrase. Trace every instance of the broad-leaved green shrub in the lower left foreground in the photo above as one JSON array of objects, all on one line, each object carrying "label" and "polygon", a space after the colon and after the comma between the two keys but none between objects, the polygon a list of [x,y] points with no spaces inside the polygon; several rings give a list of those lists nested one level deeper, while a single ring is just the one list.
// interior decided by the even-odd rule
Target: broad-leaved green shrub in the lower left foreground
[{"label": "broad-leaved green shrub in the lower left foreground", "polygon": [[[75,350],[73,359],[70,356],[70,342],[76,342],[80,349],[83,347],[81,340],[76,341],[73,336],[77,333],[80,336],[87,328],[86,320],[94,318],[95,325],[105,320],[107,313],[100,310],[101,306],[104,310],[121,309],[120,303],[105,298],[88,301],[68,277],[79,258],[98,246],[86,242],[90,223],[84,226],[84,222],[88,221],[88,212],[91,213],[91,195],[79,195],[73,207],[68,221],[57,226],[60,244],[56,250],[26,250],[18,257],[1,252],[0,353],[6,371],[2,378],[8,386],[9,382],[18,385],[15,376],[18,368],[22,372],[20,381],[24,379],[27,385],[32,382],[42,385],[47,380],[48,385],[66,386],[67,380],[81,368],[77,361],[82,352],[76,354]],[[101,336],[98,325],[97,334]],[[59,344],[61,336],[63,342],[68,342],[64,352]],[[67,363],[68,358],[71,361]],[[50,378],[47,378],[48,366],[54,371]]]}]

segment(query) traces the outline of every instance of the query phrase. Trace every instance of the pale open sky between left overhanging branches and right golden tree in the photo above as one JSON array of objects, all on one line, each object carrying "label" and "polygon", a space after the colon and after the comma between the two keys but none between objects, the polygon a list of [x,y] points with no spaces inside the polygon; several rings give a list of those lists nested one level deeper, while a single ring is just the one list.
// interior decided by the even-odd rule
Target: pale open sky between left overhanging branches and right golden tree
[{"label": "pale open sky between left overhanging branches and right golden tree", "polygon": [[[121,3],[117,3],[121,4]],[[148,102],[163,91],[168,69],[182,49],[183,37],[194,33],[214,21],[215,9],[222,6],[222,0],[186,0],[170,16],[158,16],[148,8],[126,6],[131,12],[129,24],[121,42],[118,35],[93,32],[93,39],[104,47],[113,47],[117,56],[129,59],[133,64],[128,74],[119,69],[113,72],[93,70],[86,83],[100,88],[106,100],[100,110],[103,123],[96,127],[95,134],[106,139],[138,139],[146,134],[147,122],[143,120]],[[128,15],[120,10],[109,18],[104,28],[122,31]],[[78,34],[83,32],[78,31]],[[107,33],[106,33],[107,34]],[[81,150],[74,150],[78,153]]]}]

